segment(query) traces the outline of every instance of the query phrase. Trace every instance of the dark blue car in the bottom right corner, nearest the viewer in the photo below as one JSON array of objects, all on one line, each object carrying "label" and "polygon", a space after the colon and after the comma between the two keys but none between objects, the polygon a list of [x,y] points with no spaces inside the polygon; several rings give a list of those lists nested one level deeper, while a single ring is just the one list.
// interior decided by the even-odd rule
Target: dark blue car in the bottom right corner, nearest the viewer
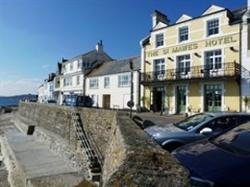
[{"label": "dark blue car in the bottom right corner, nearest the viewer", "polygon": [[172,153],[190,170],[193,187],[250,186],[250,123]]}]

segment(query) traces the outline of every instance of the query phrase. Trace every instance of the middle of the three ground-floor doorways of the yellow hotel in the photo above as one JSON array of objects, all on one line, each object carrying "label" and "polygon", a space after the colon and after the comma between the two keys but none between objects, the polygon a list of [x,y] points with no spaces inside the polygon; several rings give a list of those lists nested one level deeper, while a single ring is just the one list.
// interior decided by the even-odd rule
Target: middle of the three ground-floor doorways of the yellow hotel
[{"label": "middle of the three ground-floor doorways of the yellow hotel", "polygon": [[176,104],[177,104],[177,113],[186,112],[186,86],[177,86],[176,87]]}]

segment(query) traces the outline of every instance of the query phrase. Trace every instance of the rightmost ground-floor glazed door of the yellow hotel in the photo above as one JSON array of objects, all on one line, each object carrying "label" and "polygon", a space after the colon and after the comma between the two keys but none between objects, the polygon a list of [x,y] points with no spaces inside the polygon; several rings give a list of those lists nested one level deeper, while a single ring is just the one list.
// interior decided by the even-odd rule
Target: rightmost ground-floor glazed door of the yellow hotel
[{"label": "rightmost ground-floor glazed door of the yellow hotel", "polygon": [[222,87],[220,84],[207,84],[204,86],[205,112],[221,111]]}]

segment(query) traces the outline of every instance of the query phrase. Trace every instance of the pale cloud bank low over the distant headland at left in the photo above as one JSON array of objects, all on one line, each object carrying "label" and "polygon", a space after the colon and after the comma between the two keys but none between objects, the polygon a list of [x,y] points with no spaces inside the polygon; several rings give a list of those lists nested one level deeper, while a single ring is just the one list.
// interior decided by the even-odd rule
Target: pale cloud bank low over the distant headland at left
[{"label": "pale cloud bank low over the distant headland at left", "polygon": [[0,80],[0,96],[37,94],[41,79]]}]

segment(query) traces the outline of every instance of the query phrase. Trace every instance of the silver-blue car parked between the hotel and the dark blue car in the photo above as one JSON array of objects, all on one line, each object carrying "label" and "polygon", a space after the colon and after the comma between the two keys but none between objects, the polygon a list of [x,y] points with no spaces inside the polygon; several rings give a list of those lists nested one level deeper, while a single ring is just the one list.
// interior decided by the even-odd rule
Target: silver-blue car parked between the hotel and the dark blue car
[{"label": "silver-blue car parked between the hotel and the dark blue car", "polygon": [[250,121],[246,113],[200,113],[174,124],[151,126],[144,130],[168,151],[201,139],[222,134]]}]

